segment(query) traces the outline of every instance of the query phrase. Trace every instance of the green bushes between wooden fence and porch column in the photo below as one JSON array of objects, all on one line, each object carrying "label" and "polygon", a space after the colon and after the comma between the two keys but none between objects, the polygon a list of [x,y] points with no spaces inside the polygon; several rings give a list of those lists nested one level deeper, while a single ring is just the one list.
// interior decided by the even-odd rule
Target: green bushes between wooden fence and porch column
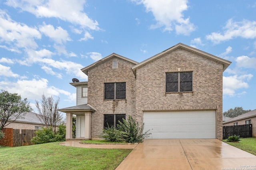
[{"label": "green bushes between wooden fence and porch column", "polygon": [[66,126],[60,125],[58,131],[54,133],[52,127],[46,127],[35,132],[36,136],[31,139],[34,144],[50,143],[50,142],[61,142],[65,141],[66,137]]}]

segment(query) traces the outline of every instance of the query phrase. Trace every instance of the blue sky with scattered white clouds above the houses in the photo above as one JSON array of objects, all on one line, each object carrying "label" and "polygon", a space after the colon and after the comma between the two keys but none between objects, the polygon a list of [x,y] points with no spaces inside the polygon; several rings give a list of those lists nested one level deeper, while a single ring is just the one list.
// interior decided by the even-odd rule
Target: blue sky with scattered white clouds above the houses
[{"label": "blue sky with scattered white clouds above the houses", "polygon": [[76,105],[72,78],[112,53],[144,61],[177,43],[232,64],[223,111],[256,109],[256,2],[251,0],[2,0],[0,89]]}]

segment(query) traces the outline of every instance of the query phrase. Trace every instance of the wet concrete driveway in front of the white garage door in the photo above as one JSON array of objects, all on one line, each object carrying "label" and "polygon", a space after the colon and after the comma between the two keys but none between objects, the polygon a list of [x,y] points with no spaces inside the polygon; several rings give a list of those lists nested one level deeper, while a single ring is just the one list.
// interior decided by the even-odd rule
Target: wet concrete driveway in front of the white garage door
[{"label": "wet concrete driveway in front of the white garage door", "polygon": [[256,170],[256,156],[218,139],[147,139],[139,143],[116,170],[243,168]]}]

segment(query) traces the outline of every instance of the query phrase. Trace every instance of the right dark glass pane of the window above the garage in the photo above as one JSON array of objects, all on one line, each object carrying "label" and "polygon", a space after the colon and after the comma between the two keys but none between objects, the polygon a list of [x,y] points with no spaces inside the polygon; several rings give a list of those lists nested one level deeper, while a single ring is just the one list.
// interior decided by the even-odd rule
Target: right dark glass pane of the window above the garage
[{"label": "right dark glass pane of the window above the garage", "polygon": [[180,92],[192,92],[192,72],[180,72]]}]

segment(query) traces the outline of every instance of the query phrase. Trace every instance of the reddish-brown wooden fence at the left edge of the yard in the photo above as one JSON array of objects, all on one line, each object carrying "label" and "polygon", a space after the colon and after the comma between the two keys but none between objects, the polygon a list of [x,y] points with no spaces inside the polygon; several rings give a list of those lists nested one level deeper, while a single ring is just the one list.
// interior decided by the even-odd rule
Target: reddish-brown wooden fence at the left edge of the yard
[{"label": "reddish-brown wooden fence at the left edge of the yard", "polygon": [[31,139],[36,136],[36,130],[3,128],[5,137],[0,140],[0,145],[8,147],[20,147],[33,145]]}]

